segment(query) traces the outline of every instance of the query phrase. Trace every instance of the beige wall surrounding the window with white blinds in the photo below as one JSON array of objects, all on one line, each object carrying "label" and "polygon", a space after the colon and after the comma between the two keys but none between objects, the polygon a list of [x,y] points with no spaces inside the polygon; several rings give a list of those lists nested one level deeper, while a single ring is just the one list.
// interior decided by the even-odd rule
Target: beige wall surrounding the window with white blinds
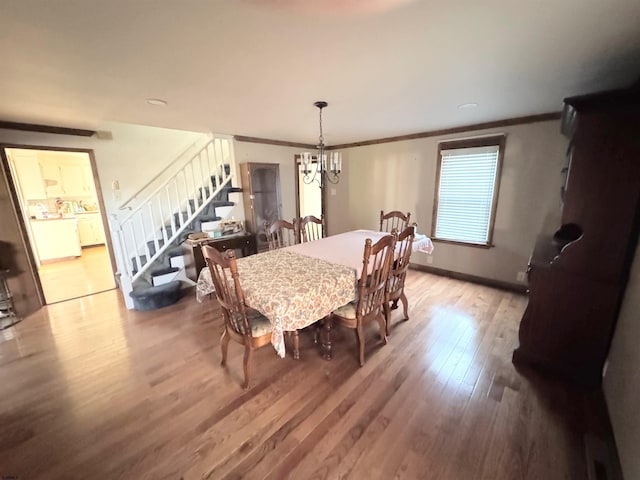
[{"label": "beige wall surrounding the window with white blinds", "polygon": [[[348,181],[336,185],[329,218],[332,233],[377,229],[380,210],[411,212],[418,232],[431,234],[438,142],[491,134],[507,136],[493,233],[489,249],[435,243],[433,267],[515,283],[525,271],[536,236],[560,222],[560,171],[567,140],[559,121],[480,130],[353,147],[343,152]],[[427,264],[428,256],[412,261]]]}]

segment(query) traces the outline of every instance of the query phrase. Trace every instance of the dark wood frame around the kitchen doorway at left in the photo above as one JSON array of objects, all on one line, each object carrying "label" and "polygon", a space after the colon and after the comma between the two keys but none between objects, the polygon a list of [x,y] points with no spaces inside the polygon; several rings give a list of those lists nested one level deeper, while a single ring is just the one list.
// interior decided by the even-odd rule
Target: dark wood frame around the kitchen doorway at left
[{"label": "dark wood frame around the kitchen doorway at left", "polygon": [[76,152],[76,153],[86,153],[89,156],[89,164],[91,166],[91,175],[93,177],[93,185],[96,190],[96,198],[98,200],[98,205],[100,207],[100,219],[102,220],[102,228],[105,231],[105,245],[107,247],[107,253],[109,254],[109,262],[111,264],[111,273],[113,274],[115,281],[115,288],[118,288],[118,280],[116,277],[117,266],[115,259],[115,252],[113,250],[113,244],[111,242],[111,229],[109,228],[109,220],[107,218],[107,212],[105,209],[104,198],[102,196],[102,187],[100,186],[100,179],[98,177],[98,169],[96,167],[96,159],[92,149],[89,148],[72,148],[72,147],[50,147],[50,146],[40,146],[40,145],[22,145],[16,143],[0,143],[0,161],[2,163],[2,168],[4,170],[5,176],[7,177],[7,183],[9,185],[9,193],[11,197],[11,204],[13,205],[13,210],[18,220],[18,225],[20,227],[20,237],[22,239],[22,245],[25,248],[27,258],[29,259],[29,266],[31,269],[31,276],[35,280],[36,290],[38,292],[38,299],[40,300],[40,305],[47,305],[44,290],[42,288],[42,283],[40,282],[40,274],[38,272],[38,267],[36,264],[35,255],[33,254],[33,249],[31,247],[31,242],[29,241],[29,234],[27,232],[27,226],[25,224],[25,212],[22,211],[22,207],[20,205],[20,198],[18,197],[18,191],[16,189],[15,181],[11,173],[11,168],[9,166],[9,159],[7,158],[6,149],[7,148],[15,148],[22,150],[48,150],[54,152]]}]

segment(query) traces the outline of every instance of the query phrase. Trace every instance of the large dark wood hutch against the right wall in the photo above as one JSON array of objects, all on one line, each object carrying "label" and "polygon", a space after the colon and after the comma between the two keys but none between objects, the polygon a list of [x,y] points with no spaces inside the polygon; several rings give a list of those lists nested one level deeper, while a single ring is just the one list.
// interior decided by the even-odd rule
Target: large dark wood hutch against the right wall
[{"label": "large dark wood hutch against the right wall", "polygon": [[640,225],[640,92],[565,100],[562,225],[540,236],[514,362],[598,385]]}]

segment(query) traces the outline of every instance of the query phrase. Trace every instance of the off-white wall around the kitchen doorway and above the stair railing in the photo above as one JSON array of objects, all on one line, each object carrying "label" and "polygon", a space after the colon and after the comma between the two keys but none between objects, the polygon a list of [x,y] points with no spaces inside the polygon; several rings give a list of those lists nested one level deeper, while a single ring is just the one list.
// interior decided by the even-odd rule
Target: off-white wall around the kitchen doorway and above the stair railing
[{"label": "off-white wall around the kitchen doorway and above the stair railing", "polygon": [[[42,134],[0,129],[0,144],[92,149],[95,154],[99,185],[102,188],[107,214],[121,216],[119,205],[144,186],[172,160],[202,139],[202,133],[145,127],[122,123],[105,123],[99,130],[109,131],[111,139]],[[120,182],[121,198],[115,199],[111,182]],[[0,178],[0,241],[14,250],[20,273],[10,278],[9,286],[15,295],[16,310],[27,315],[38,308],[35,280],[29,271],[26,247],[20,239],[18,219],[14,214],[7,178]]]}]

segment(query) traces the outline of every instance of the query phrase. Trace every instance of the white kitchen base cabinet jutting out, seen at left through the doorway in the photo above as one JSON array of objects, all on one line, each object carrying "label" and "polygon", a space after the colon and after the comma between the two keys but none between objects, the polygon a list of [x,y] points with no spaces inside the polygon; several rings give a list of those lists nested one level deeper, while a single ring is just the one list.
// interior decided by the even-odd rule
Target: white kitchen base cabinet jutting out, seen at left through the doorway
[{"label": "white kitchen base cabinet jutting out, seen at left through the doorway", "polygon": [[82,255],[75,218],[31,220],[31,232],[41,262]]}]

